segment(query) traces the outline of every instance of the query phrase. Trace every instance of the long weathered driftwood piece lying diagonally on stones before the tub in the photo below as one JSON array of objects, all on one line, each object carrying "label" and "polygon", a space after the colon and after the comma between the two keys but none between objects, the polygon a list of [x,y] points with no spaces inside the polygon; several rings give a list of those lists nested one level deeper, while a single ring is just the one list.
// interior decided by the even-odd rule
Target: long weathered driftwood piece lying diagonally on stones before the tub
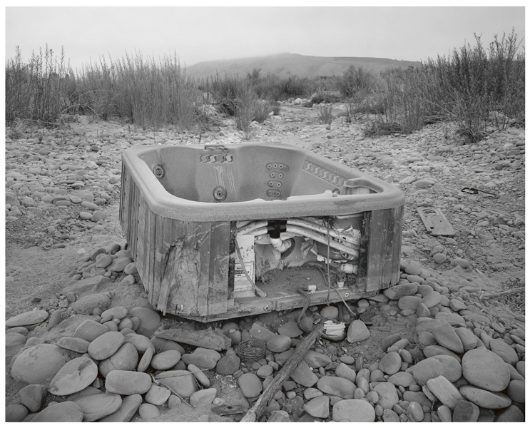
[{"label": "long weathered driftwood piece lying diagonally on stones before the tub", "polygon": [[307,351],[322,335],[322,330],[324,330],[324,324],[320,323],[312,332],[310,332],[310,335],[305,337],[305,339],[297,345],[295,352],[290,356],[289,360],[285,362],[282,370],[276,374],[276,377],[270,382],[269,386],[265,388],[261,397],[255,402],[253,407],[249,409],[240,422],[256,422],[260,419],[272,397],[274,397],[276,392],[282,387],[283,382],[285,382],[296,367],[298,367],[298,364],[303,360]]}]

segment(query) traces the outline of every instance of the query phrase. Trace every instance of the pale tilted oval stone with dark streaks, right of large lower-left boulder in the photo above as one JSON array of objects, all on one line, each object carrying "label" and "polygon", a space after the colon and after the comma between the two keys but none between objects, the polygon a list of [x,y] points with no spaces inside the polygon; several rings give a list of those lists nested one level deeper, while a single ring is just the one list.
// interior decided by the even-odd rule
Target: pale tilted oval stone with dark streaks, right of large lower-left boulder
[{"label": "pale tilted oval stone with dark streaks, right of large lower-left boulder", "polygon": [[90,358],[68,361],[51,379],[48,390],[53,395],[70,395],[85,389],[98,377],[98,366]]}]

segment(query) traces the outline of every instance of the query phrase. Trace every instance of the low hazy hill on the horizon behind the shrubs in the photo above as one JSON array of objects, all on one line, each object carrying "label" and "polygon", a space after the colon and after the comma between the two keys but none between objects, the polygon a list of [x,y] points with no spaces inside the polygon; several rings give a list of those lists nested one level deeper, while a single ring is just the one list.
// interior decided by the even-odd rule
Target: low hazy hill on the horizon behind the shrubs
[{"label": "low hazy hill on the horizon behind the shrubs", "polygon": [[261,75],[274,73],[285,77],[291,73],[300,77],[342,76],[350,65],[362,66],[367,70],[384,71],[388,68],[417,67],[419,61],[397,61],[387,58],[359,58],[355,56],[307,56],[299,54],[276,54],[255,56],[253,58],[203,61],[186,67],[190,76],[206,77],[220,74],[239,74],[246,76],[254,68],[260,68]]}]

